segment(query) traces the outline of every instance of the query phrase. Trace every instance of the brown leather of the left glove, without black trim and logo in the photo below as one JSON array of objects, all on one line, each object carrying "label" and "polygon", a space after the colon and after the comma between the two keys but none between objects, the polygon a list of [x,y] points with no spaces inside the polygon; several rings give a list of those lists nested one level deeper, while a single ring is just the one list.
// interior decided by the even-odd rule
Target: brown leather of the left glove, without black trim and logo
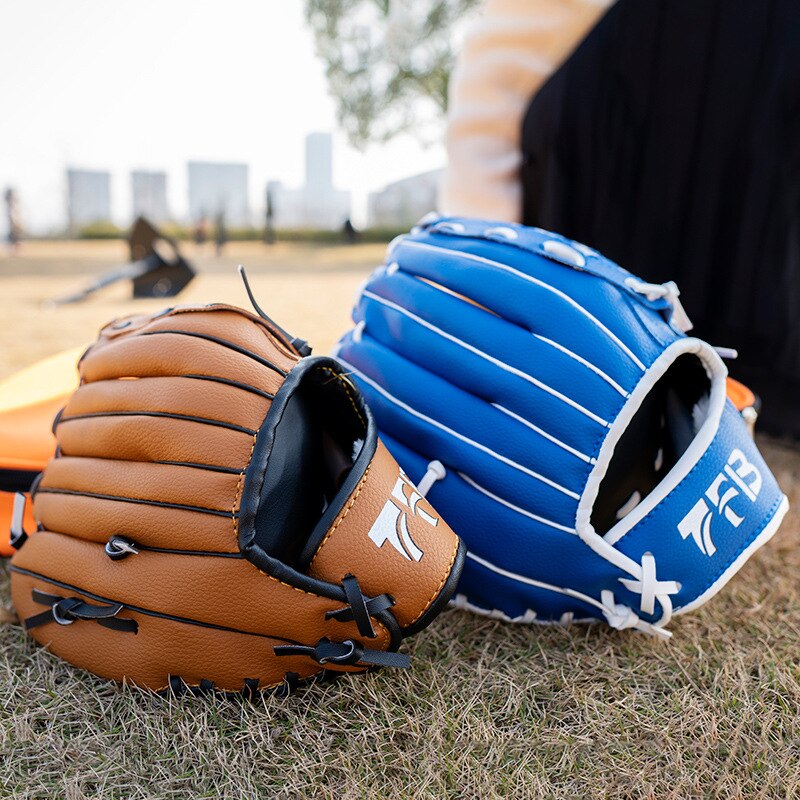
[{"label": "brown leather of the left glove, without black trim and logo", "polygon": [[[103,329],[81,359],[81,385],[56,426],[59,453],[34,499],[42,530],[14,556],[12,595],[21,619],[47,610],[32,598],[37,588],[121,603],[118,616],[135,619],[139,629],[53,620],[31,630],[37,641],[98,675],[152,689],[173,675],[238,691],[245,679],[263,687],[280,683],[286,671],[304,677],[322,669],[308,656],[275,656],[275,644],[313,647],[328,638],[371,650],[392,646],[392,631],[376,618],[375,638],[360,634],[355,622],[326,619],[326,612],[347,607],[328,596],[343,596],[346,574],[356,576],[365,595],[391,594],[390,613],[401,626],[425,612],[452,569],[457,539],[438,517],[431,524],[435,512],[421,499],[403,513],[424,551],[420,560],[370,539],[387,508],[410,502],[410,495],[390,499],[400,473],[382,445],[314,558],[310,574],[328,588],[317,594],[299,577],[291,585],[241,557],[244,473],[272,401],[246,387],[185,376],[275,394],[298,360],[267,323],[224,306],[176,308]],[[331,371],[329,364],[320,368]],[[104,548],[112,536],[131,540],[139,552],[111,559]]]}]

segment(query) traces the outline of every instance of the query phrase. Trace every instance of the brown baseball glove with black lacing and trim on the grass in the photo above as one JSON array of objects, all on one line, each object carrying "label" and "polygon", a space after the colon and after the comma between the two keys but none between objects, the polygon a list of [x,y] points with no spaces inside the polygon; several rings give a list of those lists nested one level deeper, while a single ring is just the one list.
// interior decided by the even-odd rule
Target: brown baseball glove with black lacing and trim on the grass
[{"label": "brown baseball glove with black lacing and trim on the grass", "polygon": [[112,323],[79,368],[11,565],[34,638],[154,690],[404,665],[463,550],[335,361],[214,305]]}]

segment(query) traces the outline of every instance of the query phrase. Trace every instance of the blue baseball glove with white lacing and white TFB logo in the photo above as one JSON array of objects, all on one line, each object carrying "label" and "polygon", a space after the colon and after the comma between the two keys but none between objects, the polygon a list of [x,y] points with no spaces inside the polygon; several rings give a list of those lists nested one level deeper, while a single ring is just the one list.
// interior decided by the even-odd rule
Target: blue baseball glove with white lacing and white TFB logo
[{"label": "blue baseball glove with white lacing and white TFB logo", "polygon": [[674,284],[538,228],[396,239],[336,355],[469,549],[457,605],[668,636],[788,503]]}]

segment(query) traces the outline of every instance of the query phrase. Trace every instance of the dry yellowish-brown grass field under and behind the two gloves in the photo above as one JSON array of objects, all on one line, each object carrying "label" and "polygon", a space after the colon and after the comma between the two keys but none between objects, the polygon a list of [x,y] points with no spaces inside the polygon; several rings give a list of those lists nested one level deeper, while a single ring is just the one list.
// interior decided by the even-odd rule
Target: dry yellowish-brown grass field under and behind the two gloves
[{"label": "dry yellowish-brown grass field under and behind the two gloves", "polygon": [[[262,305],[322,353],[381,254],[239,245],[200,255],[180,302],[246,304],[243,261]],[[0,377],[163,305],[116,287],[42,306],[124,255],[109,242],[0,257]],[[800,509],[800,454],[762,445]],[[156,698],[59,662],[23,635],[0,569],[0,797],[789,800],[800,796],[799,539],[792,511],[667,643],[448,611],[408,646],[411,670],[253,703]]]}]

